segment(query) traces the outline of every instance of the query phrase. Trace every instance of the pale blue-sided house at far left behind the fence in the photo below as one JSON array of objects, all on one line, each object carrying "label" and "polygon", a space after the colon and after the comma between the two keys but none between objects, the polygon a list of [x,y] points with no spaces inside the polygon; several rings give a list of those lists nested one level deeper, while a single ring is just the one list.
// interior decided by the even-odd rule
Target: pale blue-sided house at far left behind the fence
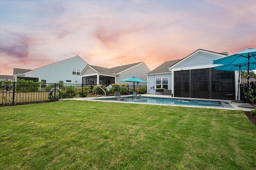
[{"label": "pale blue-sided house at far left behind the fence", "polygon": [[13,76],[15,81],[24,79],[43,83],[81,84],[80,72],[86,65],[81,57],[75,56],[34,70],[14,68]]}]

